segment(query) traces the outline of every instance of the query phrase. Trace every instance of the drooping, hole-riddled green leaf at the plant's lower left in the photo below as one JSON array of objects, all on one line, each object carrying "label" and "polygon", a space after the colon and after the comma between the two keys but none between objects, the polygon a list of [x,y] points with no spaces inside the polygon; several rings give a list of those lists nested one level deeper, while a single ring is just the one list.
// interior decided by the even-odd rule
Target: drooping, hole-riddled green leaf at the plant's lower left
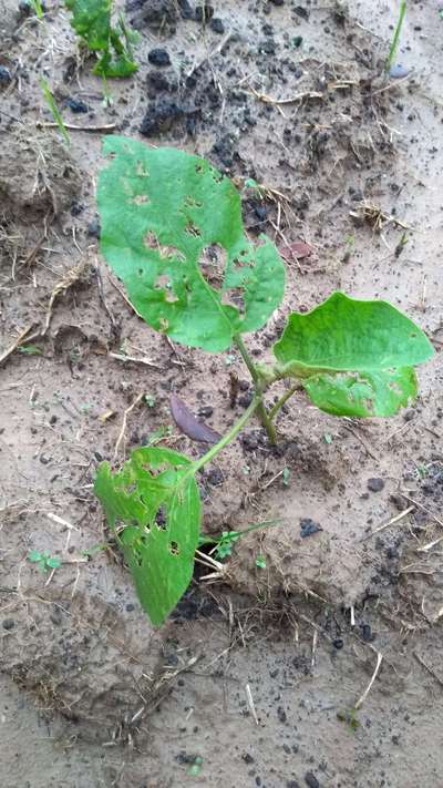
[{"label": "drooping, hole-riddled green leaf at the plant's lower left", "polygon": [[140,601],[152,623],[159,625],[193,576],[200,500],[192,462],[171,449],[136,449],[116,473],[103,462],[94,489]]}]

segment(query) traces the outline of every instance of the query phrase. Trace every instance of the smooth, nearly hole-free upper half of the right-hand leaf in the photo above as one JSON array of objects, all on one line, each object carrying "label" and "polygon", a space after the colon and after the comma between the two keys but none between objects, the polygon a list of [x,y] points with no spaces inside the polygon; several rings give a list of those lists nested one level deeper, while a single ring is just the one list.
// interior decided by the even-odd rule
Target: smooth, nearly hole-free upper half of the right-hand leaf
[{"label": "smooth, nearly hole-free upper half of the right-hand leaf", "polygon": [[333,293],[312,311],[290,315],[274,352],[288,373],[309,377],[412,367],[434,349],[421,328],[387,301]]}]

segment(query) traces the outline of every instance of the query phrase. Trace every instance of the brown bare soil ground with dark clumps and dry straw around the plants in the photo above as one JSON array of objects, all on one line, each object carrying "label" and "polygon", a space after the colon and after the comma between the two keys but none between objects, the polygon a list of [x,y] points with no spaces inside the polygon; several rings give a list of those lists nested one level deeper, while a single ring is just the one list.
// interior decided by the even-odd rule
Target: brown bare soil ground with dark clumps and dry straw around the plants
[{"label": "brown bare soil ground with dark clumps and dry straw around the plants", "polygon": [[[110,81],[111,103],[66,12],[47,6],[37,22],[0,0],[2,786],[439,786],[441,3],[409,3],[388,80],[396,9],[383,0],[214,2],[213,16],[130,0],[141,68]],[[198,572],[157,631],[93,497],[95,468],[161,428],[196,457],[171,391],[225,432],[250,389],[235,354],[167,342],[124,300],[97,244],[104,133],[265,185],[243,188],[245,224],[282,250],[287,289],[247,337],[257,358],[291,308],[334,289],[389,299],[437,350],[393,419],[339,421],[298,395],[277,449],[250,423],[200,474],[204,529],[281,522],[236,544],[223,583]],[[311,254],[297,258],[300,241]],[[128,411],[141,393],[152,407]],[[31,550],[62,565],[40,572]]]}]

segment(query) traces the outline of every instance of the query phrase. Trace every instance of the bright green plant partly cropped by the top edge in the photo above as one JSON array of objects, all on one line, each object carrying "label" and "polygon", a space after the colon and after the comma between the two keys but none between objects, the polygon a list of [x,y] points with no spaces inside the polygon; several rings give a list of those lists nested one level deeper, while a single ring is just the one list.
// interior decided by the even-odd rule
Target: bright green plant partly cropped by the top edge
[{"label": "bright green plant partly cropped by the top edge", "polygon": [[106,76],[130,76],[138,65],[134,62],[132,47],[138,33],[131,30],[121,14],[112,25],[112,0],[65,0],[72,11],[71,27],[99,60],[93,73]]}]

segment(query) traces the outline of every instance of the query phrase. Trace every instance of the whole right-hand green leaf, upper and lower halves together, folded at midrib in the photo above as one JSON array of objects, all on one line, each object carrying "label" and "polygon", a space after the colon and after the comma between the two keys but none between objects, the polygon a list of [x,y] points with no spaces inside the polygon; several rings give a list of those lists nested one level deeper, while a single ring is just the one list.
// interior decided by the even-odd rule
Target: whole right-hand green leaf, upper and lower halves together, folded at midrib
[{"label": "whole right-hand green leaf, upper and lower halves together, folded at midrib", "polygon": [[279,370],[301,378],[312,402],[336,416],[392,416],[416,396],[414,365],[434,349],[421,328],[387,301],[334,293],[293,313],[274,346]]}]

